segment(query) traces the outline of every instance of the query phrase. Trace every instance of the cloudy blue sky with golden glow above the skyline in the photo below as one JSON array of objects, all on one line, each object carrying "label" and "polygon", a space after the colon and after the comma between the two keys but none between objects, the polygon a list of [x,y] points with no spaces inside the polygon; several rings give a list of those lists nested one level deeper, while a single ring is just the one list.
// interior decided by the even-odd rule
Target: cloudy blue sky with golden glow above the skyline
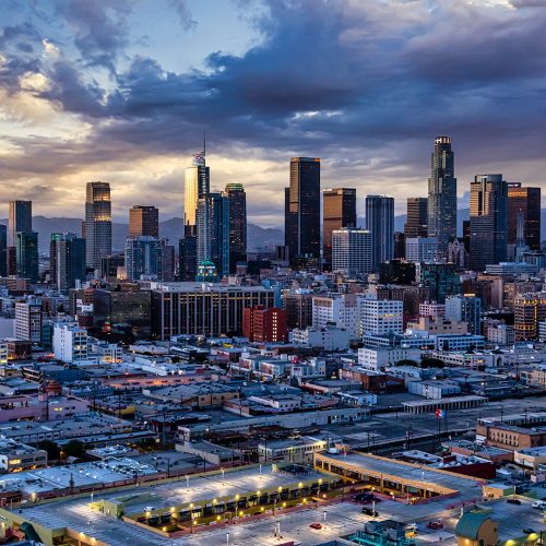
[{"label": "cloudy blue sky with golden glow above the skyline", "polygon": [[[212,189],[241,182],[249,222],[284,224],[293,156],[321,186],[427,194],[453,140],[461,206],[476,174],[546,190],[544,0],[2,0],[0,217],[182,215],[206,131]],[[546,191],[543,193],[546,194]],[[545,195],[546,197],[546,195]],[[546,205],[544,201],[543,205]]]}]

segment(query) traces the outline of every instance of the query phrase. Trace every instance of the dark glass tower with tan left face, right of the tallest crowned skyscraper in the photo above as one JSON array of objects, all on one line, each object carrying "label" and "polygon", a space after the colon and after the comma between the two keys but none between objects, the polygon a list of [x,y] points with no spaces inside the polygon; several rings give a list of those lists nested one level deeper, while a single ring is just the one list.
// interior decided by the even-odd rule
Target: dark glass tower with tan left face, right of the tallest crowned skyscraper
[{"label": "dark glass tower with tan left face, right of the tallest crowned skyscraper", "polygon": [[471,182],[471,258],[473,271],[507,261],[508,185],[502,175],[477,175]]}]

